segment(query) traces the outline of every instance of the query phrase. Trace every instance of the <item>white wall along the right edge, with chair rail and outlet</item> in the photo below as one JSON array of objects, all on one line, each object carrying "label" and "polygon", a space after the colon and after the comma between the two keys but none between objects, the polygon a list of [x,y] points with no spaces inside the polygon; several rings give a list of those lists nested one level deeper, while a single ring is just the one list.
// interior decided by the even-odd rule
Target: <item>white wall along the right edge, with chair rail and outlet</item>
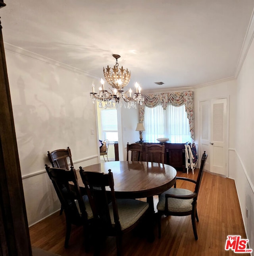
[{"label": "white wall along the right edge, with chair rail and outlet", "polygon": [[[254,249],[254,42],[250,45],[237,78],[237,109],[235,138],[235,183],[242,209],[250,248]],[[248,218],[246,217],[248,208]]]}]

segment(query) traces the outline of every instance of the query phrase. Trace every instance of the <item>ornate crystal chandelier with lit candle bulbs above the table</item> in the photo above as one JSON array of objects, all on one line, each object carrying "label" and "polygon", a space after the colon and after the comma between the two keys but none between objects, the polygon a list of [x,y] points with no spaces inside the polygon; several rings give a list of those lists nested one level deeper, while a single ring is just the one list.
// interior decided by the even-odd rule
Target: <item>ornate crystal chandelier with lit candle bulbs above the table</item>
[{"label": "ornate crystal chandelier with lit candle bulbs above the table", "polygon": [[[114,90],[109,88],[105,90],[104,87],[104,80],[101,79],[100,82],[102,87],[99,88],[99,93],[94,92],[94,83],[92,83],[92,92],[90,93],[90,98],[92,99],[92,103],[96,100],[99,102],[99,107],[106,109],[110,107],[122,107],[124,106],[127,109],[131,107],[137,108],[137,104],[142,105],[144,102],[144,96],[141,95],[140,91],[141,88],[138,83],[135,83],[136,92],[132,95],[132,90],[124,91],[123,88],[128,85],[131,79],[131,72],[126,68],[118,68],[117,59],[121,56],[118,54],[112,54],[115,58],[115,65],[114,68],[110,68],[107,66],[106,68],[103,67],[104,78],[107,83],[114,88]],[[103,106],[104,103],[104,106]]]}]

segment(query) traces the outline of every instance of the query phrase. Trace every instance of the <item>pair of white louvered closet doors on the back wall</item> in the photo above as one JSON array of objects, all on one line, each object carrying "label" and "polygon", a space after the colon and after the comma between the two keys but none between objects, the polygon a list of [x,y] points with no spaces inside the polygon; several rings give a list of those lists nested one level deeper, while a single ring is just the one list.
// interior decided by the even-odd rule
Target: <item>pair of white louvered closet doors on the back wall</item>
[{"label": "pair of white louvered closet doors on the back wall", "polygon": [[200,124],[200,153],[208,153],[206,170],[226,175],[227,99],[200,102]]}]

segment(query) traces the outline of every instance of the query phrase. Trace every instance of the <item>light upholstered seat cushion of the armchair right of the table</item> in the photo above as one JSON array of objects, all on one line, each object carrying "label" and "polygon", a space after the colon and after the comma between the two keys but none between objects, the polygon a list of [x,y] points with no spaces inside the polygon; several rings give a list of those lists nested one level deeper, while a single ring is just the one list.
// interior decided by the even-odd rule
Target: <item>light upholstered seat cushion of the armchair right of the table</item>
[{"label": "light upholstered seat cushion of the armchair right of the table", "polygon": [[[193,192],[191,190],[183,189],[183,188],[170,188],[160,195],[159,203],[157,205],[158,211],[165,211],[165,194],[173,194],[173,195],[190,195]],[[168,209],[167,211],[175,211],[175,212],[185,212],[192,210],[192,202],[193,199],[178,199],[178,198],[167,198]]]}]

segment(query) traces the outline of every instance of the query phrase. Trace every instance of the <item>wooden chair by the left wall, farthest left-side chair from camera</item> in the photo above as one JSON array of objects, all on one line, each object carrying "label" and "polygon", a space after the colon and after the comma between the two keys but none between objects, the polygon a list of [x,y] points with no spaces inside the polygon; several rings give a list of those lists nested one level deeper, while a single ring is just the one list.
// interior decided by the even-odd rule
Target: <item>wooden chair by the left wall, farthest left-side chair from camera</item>
[{"label": "wooden chair by the left wall, farthest left-side chair from camera", "polygon": [[48,151],[48,159],[52,164],[52,167],[63,168],[69,170],[69,165],[73,166],[71,158],[71,149],[56,149],[54,151]]}]

